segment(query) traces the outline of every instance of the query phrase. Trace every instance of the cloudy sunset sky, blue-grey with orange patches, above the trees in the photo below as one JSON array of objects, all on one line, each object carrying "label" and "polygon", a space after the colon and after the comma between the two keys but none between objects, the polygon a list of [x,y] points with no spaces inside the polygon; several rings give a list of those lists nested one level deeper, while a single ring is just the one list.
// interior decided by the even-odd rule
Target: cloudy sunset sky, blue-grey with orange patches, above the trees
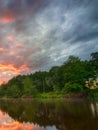
[{"label": "cloudy sunset sky, blue-grey with orange patches, above the trees", "polygon": [[98,0],[0,0],[0,83],[98,51]]}]

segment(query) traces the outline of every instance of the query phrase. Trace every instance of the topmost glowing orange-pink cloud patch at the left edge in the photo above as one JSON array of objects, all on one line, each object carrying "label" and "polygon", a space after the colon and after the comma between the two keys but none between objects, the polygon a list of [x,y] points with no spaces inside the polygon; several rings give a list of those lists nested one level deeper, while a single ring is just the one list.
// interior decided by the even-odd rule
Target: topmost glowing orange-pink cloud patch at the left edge
[{"label": "topmost glowing orange-pink cloud patch at the left edge", "polygon": [[0,17],[0,21],[3,23],[12,23],[13,21],[15,21],[15,17],[10,11],[6,11]]}]

